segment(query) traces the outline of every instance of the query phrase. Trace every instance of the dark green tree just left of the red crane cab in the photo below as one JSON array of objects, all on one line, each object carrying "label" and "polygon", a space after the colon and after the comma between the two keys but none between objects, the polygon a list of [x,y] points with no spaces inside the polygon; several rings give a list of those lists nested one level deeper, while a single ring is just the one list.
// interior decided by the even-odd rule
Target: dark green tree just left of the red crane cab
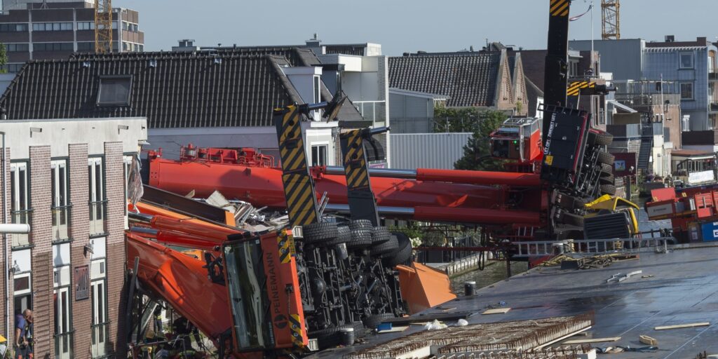
[{"label": "dark green tree just left of the red crane cab", "polygon": [[489,136],[507,118],[501,111],[477,111],[474,134],[464,146],[464,157],[454,163],[455,169],[496,171],[503,169],[503,161],[490,157]]}]

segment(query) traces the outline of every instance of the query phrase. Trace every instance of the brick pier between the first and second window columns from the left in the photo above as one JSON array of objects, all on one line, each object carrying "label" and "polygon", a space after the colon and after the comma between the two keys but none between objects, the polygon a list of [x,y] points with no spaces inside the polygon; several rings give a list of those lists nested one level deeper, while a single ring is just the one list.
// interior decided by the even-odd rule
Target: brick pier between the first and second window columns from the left
[{"label": "brick pier between the first and second window columns from the left", "polygon": [[35,357],[55,355],[52,335],[55,314],[52,298],[52,218],[50,216],[50,146],[30,147],[32,213],[32,289]]}]

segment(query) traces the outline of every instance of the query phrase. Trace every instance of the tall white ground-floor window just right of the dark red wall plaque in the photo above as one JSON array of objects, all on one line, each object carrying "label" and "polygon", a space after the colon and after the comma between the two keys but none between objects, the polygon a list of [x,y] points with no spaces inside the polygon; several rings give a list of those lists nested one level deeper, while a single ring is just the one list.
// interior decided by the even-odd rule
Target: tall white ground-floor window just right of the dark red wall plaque
[{"label": "tall white ground-floor window just right of the dark red wall plaque", "polygon": [[105,259],[95,259],[90,264],[90,298],[92,300],[92,356],[106,354],[109,323],[107,320],[107,280]]}]

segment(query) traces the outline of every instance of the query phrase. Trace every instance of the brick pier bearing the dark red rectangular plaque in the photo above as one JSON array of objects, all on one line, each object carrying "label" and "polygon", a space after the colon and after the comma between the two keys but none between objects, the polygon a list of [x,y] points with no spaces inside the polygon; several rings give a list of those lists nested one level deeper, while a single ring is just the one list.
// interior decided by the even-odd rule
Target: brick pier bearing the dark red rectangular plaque
[{"label": "brick pier bearing the dark red rectangular plaque", "polygon": [[[83,248],[88,243],[90,236],[89,218],[89,194],[88,194],[88,145],[70,144],[68,149],[69,157],[67,166],[70,173],[70,202],[73,204],[70,214],[70,268],[71,275],[75,267],[90,264],[90,256],[85,256]],[[73,291],[72,312],[75,358],[90,358],[92,356],[90,342],[90,327],[92,325],[92,302],[91,299],[75,300]]]}]

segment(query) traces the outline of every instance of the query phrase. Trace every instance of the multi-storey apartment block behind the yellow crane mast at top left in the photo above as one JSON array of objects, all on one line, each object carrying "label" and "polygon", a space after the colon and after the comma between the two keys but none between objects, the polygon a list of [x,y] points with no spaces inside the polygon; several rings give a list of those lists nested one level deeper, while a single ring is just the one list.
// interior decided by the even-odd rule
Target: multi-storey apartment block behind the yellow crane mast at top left
[{"label": "multi-storey apartment block behind the yellow crane mast at top left", "polygon": [[[4,0],[0,42],[6,70],[17,73],[28,60],[66,59],[73,52],[95,51],[95,1]],[[113,9],[113,51],[144,51],[139,13]]]}]

